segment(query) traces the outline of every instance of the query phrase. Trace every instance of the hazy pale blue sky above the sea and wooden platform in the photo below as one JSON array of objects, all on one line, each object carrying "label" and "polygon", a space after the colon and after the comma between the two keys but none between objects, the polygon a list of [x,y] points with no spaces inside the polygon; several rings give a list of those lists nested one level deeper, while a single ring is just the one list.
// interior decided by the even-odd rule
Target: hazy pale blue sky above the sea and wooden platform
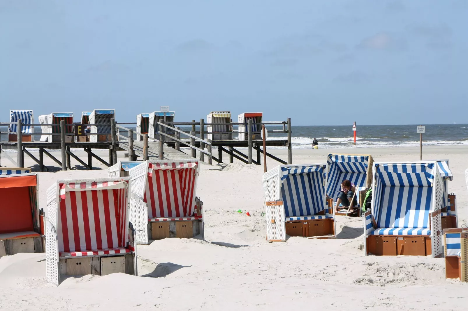
[{"label": "hazy pale blue sky above the sea and wooden platform", "polygon": [[468,123],[466,0],[0,0],[0,121]]}]

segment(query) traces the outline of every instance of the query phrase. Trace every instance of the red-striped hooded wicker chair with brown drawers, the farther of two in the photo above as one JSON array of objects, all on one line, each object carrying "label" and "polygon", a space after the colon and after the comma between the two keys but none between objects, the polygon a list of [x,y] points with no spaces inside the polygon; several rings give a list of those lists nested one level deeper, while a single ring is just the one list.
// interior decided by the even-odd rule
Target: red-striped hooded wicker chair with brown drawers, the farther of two
[{"label": "red-striped hooded wicker chair with brown drawers, the farther of two", "polygon": [[203,202],[196,196],[198,162],[146,161],[130,169],[130,222],[136,242],[192,238],[203,228]]}]

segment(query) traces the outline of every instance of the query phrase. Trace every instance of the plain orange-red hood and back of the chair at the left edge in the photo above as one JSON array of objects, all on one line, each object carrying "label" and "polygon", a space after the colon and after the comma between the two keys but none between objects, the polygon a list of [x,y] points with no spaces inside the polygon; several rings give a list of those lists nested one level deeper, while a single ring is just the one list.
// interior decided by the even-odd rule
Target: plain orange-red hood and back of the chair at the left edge
[{"label": "plain orange-red hood and back of the chair at the left edge", "polygon": [[39,236],[37,173],[0,176],[0,240]]}]

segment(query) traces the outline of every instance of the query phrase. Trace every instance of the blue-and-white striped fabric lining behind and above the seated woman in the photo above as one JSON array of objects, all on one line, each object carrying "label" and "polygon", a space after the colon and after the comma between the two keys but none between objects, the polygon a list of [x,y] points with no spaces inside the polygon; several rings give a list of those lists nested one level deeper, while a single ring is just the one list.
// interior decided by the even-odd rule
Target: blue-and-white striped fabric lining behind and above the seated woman
[{"label": "blue-and-white striped fabric lining behind and above the seated woman", "polygon": [[369,156],[366,155],[332,155],[327,158],[328,177],[327,195],[335,201],[341,190],[341,183],[348,179],[356,187],[366,187],[367,166]]}]

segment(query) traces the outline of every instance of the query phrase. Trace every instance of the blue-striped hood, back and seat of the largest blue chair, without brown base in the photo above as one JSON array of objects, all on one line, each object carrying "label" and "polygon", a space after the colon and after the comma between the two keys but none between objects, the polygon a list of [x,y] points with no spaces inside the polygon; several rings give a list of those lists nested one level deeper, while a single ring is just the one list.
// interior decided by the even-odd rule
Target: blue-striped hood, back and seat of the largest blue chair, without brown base
[{"label": "blue-striped hood, back and seat of the largest blue chair, without brown base", "polygon": [[371,234],[430,235],[429,214],[441,208],[443,196],[441,182],[434,187],[436,163],[374,163],[373,170],[378,228]]}]

